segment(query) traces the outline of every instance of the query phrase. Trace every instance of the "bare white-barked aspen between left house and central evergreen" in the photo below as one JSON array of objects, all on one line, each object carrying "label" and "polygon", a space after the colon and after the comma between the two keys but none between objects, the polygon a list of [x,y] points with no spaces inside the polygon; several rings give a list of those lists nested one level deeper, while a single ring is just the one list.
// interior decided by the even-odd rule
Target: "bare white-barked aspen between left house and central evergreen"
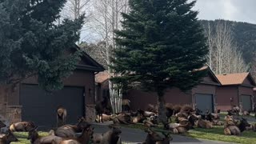
[{"label": "bare white-barked aspen between left house and central evergreen", "polygon": [[[115,77],[110,59],[113,58],[113,50],[116,47],[114,42],[114,30],[122,29],[120,21],[121,13],[128,13],[128,0],[94,0],[94,15],[90,22],[90,27],[101,37],[101,41],[105,46],[98,46],[99,55],[106,62],[107,71],[110,77]],[[114,112],[122,110],[122,91],[116,89],[116,84],[109,82],[110,100]]]}]

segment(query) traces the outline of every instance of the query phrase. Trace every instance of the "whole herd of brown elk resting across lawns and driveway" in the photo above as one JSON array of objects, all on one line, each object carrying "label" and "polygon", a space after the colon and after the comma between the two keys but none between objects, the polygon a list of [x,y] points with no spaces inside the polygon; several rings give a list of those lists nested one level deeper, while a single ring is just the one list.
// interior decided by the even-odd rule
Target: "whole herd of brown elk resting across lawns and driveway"
[{"label": "whole herd of brown elk resting across lawns and driveway", "polygon": [[[237,107],[228,110],[224,122],[220,120],[219,110],[217,113],[211,113],[209,110],[193,109],[186,105],[165,104],[167,121],[158,120],[158,106],[149,104],[146,110],[138,109],[130,111],[130,101],[123,102],[126,105],[126,112],[120,114],[111,114],[110,101],[104,98],[102,102],[96,104],[97,112],[96,122],[113,121],[109,129],[103,134],[94,134],[94,127],[86,122],[86,118],[78,118],[75,125],[66,124],[67,110],[59,106],[56,110],[57,127],[50,130],[46,136],[38,134],[38,126],[34,122],[12,123],[6,134],[0,134],[0,144],[9,144],[18,142],[18,138],[13,132],[28,132],[27,139],[32,144],[121,144],[121,124],[130,125],[142,123],[145,126],[146,140],[143,144],[169,144],[172,141],[170,134],[185,134],[188,130],[195,128],[212,129],[213,126],[223,126],[223,132],[226,135],[240,135],[244,130],[256,131],[256,126],[250,125],[245,118],[234,118],[237,113]],[[167,132],[158,134],[153,127],[162,127]],[[0,127],[6,125],[0,121]]]}]

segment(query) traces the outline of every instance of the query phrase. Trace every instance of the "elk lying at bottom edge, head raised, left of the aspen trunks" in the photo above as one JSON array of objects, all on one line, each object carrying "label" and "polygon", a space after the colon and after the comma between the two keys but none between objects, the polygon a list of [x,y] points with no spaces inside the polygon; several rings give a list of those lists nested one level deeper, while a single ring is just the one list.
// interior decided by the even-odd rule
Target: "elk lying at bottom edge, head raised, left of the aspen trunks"
[{"label": "elk lying at bottom edge, head raised, left of the aspen trunks", "polygon": [[94,128],[87,127],[82,130],[82,134],[78,138],[64,138],[60,142],[56,142],[55,139],[52,141],[54,144],[89,144],[93,138]]}]

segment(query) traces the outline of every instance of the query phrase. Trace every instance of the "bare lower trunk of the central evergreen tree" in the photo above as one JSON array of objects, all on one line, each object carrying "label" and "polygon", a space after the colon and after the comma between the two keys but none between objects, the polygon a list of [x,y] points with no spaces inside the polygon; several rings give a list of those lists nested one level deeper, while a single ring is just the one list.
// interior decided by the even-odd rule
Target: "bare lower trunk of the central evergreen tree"
[{"label": "bare lower trunk of the central evergreen tree", "polygon": [[164,93],[158,92],[158,122],[167,122]]}]

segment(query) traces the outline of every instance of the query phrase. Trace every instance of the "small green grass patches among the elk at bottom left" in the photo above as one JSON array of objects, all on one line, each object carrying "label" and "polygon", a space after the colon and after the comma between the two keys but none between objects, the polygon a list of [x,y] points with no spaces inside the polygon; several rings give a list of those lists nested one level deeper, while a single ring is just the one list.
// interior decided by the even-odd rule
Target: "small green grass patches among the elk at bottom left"
[{"label": "small green grass patches among the elk at bottom left", "polygon": [[[38,132],[40,136],[46,136],[46,132]],[[30,140],[26,139],[28,132],[15,132],[14,135],[18,138],[18,142],[11,142],[11,144],[30,144]]]}]

